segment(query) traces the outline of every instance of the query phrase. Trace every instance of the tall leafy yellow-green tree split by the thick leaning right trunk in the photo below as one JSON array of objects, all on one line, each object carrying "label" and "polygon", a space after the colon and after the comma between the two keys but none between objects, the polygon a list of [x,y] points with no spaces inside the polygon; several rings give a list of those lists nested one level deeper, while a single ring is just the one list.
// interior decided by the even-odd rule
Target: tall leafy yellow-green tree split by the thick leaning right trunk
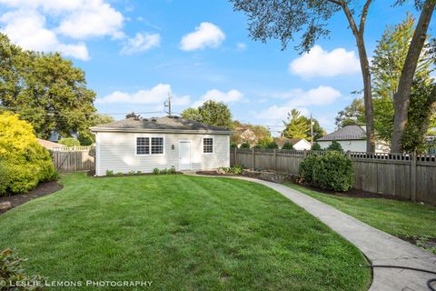
[{"label": "tall leafy yellow-green tree split by the thick leaning right trunk", "polygon": [[[372,60],[372,84],[374,95],[374,121],[378,137],[388,143],[392,140],[394,120],[393,96],[398,90],[401,70],[408,54],[409,44],[413,35],[414,19],[411,15],[400,24],[388,26],[381,36]],[[426,129],[423,125],[429,123],[422,118],[430,119],[431,105],[431,58],[427,51],[422,51],[415,72],[411,91],[411,106],[408,115],[411,116],[406,126],[407,135],[403,135],[403,144],[407,150],[422,148],[423,135]],[[420,117],[418,117],[420,116]],[[420,134],[421,133],[421,134]],[[421,137],[418,137],[421,135]],[[406,149],[406,148],[404,148]]]}]

